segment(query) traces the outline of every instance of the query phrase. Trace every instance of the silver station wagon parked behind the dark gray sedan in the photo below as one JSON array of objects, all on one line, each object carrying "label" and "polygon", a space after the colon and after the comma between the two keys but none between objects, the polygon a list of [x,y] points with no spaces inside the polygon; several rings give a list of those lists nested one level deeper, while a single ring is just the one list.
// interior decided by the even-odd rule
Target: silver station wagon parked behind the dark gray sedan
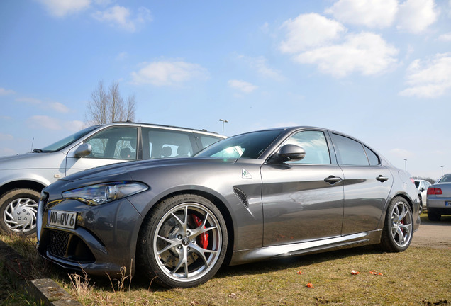
[{"label": "silver station wagon parked behind the dark gray sedan", "polygon": [[118,162],[188,157],[223,138],[205,130],[111,123],[32,153],[0,157],[0,230],[34,234],[40,191],[69,174]]}]

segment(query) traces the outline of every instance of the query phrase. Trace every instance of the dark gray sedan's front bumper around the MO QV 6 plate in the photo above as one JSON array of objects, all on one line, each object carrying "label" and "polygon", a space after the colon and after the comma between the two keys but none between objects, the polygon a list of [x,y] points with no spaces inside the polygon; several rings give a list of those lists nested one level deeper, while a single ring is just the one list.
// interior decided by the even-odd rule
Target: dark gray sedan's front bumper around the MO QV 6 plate
[{"label": "dark gray sedan's front bumper around the MO QV 6 plate", "polygon": [[[126,198],[99,206],[70,199],[55,202],[39,205],[41,256],[64,268],[94,275],[116,275],[123,266],[135,270],[135,248],[143,219]],[[50,225],[49,209],[76,212],[75,228]]]}]

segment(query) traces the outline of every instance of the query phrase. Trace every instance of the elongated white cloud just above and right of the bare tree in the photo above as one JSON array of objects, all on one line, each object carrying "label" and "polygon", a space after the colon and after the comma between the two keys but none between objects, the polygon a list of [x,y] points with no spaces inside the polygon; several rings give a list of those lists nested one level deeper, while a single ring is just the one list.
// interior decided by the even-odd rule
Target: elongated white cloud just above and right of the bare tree
[{"label": "elongated white cloud just above and right of the bare tree", "polygon": [[161,61],[143,63],[143,68],[132,72],[135,84],[152,84],[155,86],[172,86],[191,79],[208,79],[208,72],[199,64],[182,61]]}]

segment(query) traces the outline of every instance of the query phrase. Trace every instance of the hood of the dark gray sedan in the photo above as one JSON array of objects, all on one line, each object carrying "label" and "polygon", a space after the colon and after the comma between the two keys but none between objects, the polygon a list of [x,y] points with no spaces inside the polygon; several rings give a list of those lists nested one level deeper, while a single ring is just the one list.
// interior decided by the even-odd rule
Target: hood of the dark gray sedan
[{"label": "hood of the dark gray sedan", "polygon": [[119,164],[109,164],[99,166],[66,176],[64,181],[78,181],[82,179],[95,179],[97,177],[114,177],[120,174],[127,174],[133,171],[143,171],[145,169],[161,168],[169,166],[188,166],[192,164],[234,164],[237,159],[223,159],[214,157],[188,157],[188,158],[165,158],[147,159],[136,162],[123,162]]}]

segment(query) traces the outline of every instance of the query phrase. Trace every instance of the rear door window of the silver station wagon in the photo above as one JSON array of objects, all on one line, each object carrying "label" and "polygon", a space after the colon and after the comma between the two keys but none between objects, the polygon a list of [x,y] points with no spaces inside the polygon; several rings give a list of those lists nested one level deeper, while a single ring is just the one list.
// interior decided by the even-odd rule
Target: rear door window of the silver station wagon
[{"label": "rear door window of the silver station wagon", "polygon": [[143,128],[143,159],[191,157],[195,153],[192,141],[189,132]]}]

